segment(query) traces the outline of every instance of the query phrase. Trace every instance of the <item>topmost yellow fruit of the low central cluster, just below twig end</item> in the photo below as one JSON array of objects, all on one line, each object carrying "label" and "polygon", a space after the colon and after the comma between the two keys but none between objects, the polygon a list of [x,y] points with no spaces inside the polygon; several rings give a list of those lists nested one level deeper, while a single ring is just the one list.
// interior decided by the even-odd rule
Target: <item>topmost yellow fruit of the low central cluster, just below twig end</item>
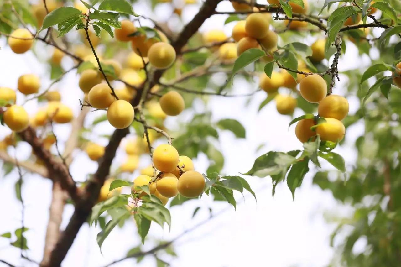
[{"label": "topmost yellow fruit of the low central cluster, just below twig end", "polygon": [[177,150],[168,144],[162,144],[153,151],[154,166],[161,172],[173,172],[179,161]]}]

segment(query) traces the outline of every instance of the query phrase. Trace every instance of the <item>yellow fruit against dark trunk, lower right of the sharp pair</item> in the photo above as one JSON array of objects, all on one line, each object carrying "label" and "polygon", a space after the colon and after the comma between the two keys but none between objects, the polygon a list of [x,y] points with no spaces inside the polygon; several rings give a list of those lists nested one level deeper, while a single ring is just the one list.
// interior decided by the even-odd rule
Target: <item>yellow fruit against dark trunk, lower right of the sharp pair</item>
[{"label": "yellow fruit against dark trunk, lower right of the sharp pair", "polygon": [[131,125],[134,120],[134,108],[122,99],[112,103],[107,109],[107,120],[117,129],[124,129]]}]

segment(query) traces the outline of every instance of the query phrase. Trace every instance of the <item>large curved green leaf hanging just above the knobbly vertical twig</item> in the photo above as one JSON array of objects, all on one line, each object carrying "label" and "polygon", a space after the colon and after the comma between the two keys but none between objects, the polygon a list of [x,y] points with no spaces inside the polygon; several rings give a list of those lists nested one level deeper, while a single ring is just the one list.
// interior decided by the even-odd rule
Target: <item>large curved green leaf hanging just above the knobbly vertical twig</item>
[{"label": "large curved green leaf hanging just above the knobbly vertical twig", "polygon": [[326,50],[328,50],[328,48],[336,39],[337,34],[340,32],[345,20],[356,13],[357,12],[353,6],[343,6],[334,10],[327,20],[328,40],[326,42]]}]

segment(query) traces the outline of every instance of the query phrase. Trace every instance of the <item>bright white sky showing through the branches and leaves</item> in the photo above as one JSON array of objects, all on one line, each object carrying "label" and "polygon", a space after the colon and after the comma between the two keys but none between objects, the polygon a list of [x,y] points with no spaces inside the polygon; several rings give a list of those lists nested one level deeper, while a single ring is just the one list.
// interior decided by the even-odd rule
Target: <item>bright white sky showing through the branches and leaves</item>
[{"label": "bright white sky showing through the branches and leaves", "polygon": [[[322,4],[322,1],[320,1]],[[159,11],[160,19],[163,18],[168,5],[161,5],[156,10]],[[219,5],[219,10],[230,10],[228,1]],[[146,8],[142,5],[136,7],[136,12],[146,14]],[[162,12],[163,11],[163,12]],[[187,22],[192,18],[196,7],[188,7],[183,12],[183,20]],[[213,16],[208,19],[201,27],[201,31],[211,28],[223,28],[226,16]],[[174,25],[174,19],[169,23]],[[233,23],[224,27],[229,34]],[[312,42],[307,40],[306,42]],[[16,88],[18,77],[26,73],[36,73],[43,77],[43,88],[49,84],[48,70],[43,68],[41,63],[36,61],[32,52],[23,55],[16,55],[6,47],[5,39],[0,40],[0,58],[6,64],[0,64],[1,86]],[[36,51],[40,55],[48,57],[51,49],[37,46]],[[369,64],[369,59],[358,57],[358,53],[353,44],[347,43],[347,57],[340,59],[340,71],[364,67]],[[71,66],[72,61],[65,59],[65,68]],[[346,67],[345,67],[346,66]],[[334,93],[343,94],[345,92],[344,83],[346,79],[342,77],[340,83],[336,83]],[[77,75],[69,73],[55,88],[59,88],[63,94],[63,103],[74,109],[75,115],[79,113],[78,98],[82,93],[77,85]],[[255,84],[236,78],[234,81],[235,89],[233,93],[246,93],[253,91]],[[69,97],[67,98],[66,95]],[[17,103],[22,103],[22,95],[17,96]],[[265,106],[259,113],[257,108],[259,103],[265,99],[265,93],[259,92],[253,96],[251,103],[245,107],[246,99],[212,97],[207,109],[213,110],[213,121],[222,118],[238,119],[247,129],[246,140],[235,139],[230,132],[221,132],[220,148],[225,155],[225,167],[222,174],[237,175],[239,172],[249,170],[257,156],[276,150],[289,151],[302,148],[300,142],[294,135],[294,126],[288,130],[289,116],[279,115],[273,103]],[[354,98],[350,101],[350,113],[358,107],[358,100]],[[26,104],[29,111],[37,110],[37,103],[31,101]],[[196,103],[194,109],[202,112],[205,107],[201,103]],[[93,118],[99,116],[103,111],[89,113],[86,123],[90,123]],[[30,112],[33,114],[33,112]],[[178,117],[169,117],[166,125],[171,128],[176,127],[177,121],[190,119],[192,111],[185,111]],[[302,115],[300,109],[296,110],[295,116]],[[113,128],[105,123],[99,124],[94,131],[96,134],[111,133]],[[354,140],[363,131],[363,124],[358,123],[347,129],[347,142],[336,152],[344,156],[347,164],[354,162],[355,152],[352,149]],[[9,134],[9,129],[0,126],[0,138]],[[69,125],[57,125],[55,133],[59,140],[64,141],[69,134]],[[107,144],[107,140],[97,140],[101,144]],[[162,140],[164,142],[164,140]],[[259,144],[265,146],[255,152]],[[27,144],[20,143],[17,148],[18,158],[26,159],[30,155],[30,148]],[[14,150],[9,148],[8,152],[13,155]],[[113,168],[121,163],[124,152],[118,151]],[[323,169],[332,169],[329,164],[322,161]],[[207,160],[204,156],[194,160],[196,170],[205,172]],[[149,164],[148,158],[142,158],[142,165]],[[83,181],[87,174],[95,172],[97,164],[91,162],[83,152],[75,154],[75,162],[71,165],[71,173],[75,180]],[[245,193],[245,204],[242,202],[237,206],[237,210],[230,208],[223,215],[211,220],[196,231],[184,236],[176,243],[176,253],[178,258],[170,259],[163,257],[172,266],[325,266],[334,255],[334,250],[329,246],[329,238],[335,224],[329,224],[324,219],[324,214],[344,215],[349,214],[350,208],[338,204],[330,192],[323,192],[317,186],[312,185],[313,172],[316,170],[310,164],[311,172],[304,179],[301,188],[296,190],[295,200],[292,200],[291,192],[286,182],[280,183],[276,188],[274,198],[271,196],[271,179],[248,177],[245,178],[251,184],[253,190],[257,192],[257,204],[249,193]],[[134,176],[129,176],[132,180]],[[20,227],[21,206],[15,198],[14,184],[18,175],[14,171],[6,178],[0,179],[0,234],[13,232]],[[24,176],[22,196],[25,202],[25,226],[30,230],[26,232],[28,238],[28,256],[35,261],[40,261],[43,254],[45,231],[48,221],[48,210],[51,201],[51,182],[37,175],[27,174]],[[240,197],[240,195],[238,196]],[[201,206],[201,210],[192,219],[194,208]],[[208,208],[212,207],[213,212],[226,208],[225,202],[212,202],[210,198],[204,197],[201,200],[192,200],[182,206],[174,206],[170,209],[172,215],[172,228],[164,231],[156,224],[152,224],[149,240],[145,247],[152,248],[154,239],[170,240],[180,234],[184,229],[190,228],[199,221],[209,216]],[[69,216],[73,212],[73,207],[67,205],[65,208],[62,228],[69,221]],[[84,225],[65,261],[63,266],[103,266],[110,261],[124,257],[126,252],[140,243],[134,223],[126,223],[123,229],[115,228],[103,243],[101,255],[96,243],[96,235],[99,228]],[[188,241],[188,242],[187,242]],[[19,249],[8,245],[8,239],[0,238],[0,259],[4,259],[17,266],[30,266],[26,261],[19,257]],[[362,246],[363,247],[363,246]],[[132,266],[134,261],[126,260],[114,266]],[[154,265],[154,259],[150,256],[142,261],[141,266]],[[32,265],[34,266],[34,265]]]}]

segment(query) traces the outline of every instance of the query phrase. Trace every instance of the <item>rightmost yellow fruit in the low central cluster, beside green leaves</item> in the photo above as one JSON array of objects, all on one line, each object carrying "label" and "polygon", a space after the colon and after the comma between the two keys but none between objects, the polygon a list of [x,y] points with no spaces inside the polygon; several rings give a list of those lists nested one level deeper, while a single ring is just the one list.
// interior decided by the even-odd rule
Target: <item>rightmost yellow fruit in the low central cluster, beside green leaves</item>
[{"label": "rightmost yellow fruit in the low central cluster, beside green leaves", "polygon": [[205,178],[199,172],[184,172],[178,179],[177,189],[186,198],[196,198],[205,188]]}]

